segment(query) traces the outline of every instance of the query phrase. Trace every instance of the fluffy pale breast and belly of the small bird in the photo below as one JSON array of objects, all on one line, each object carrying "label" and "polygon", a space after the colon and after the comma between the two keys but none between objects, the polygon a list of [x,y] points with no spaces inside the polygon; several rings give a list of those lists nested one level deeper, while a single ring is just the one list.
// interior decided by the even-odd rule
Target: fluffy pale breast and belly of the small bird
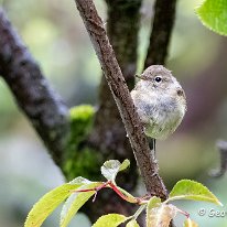
[{"label": "fluffy pale breast and belly of the small bird", "polygon": [[165,139],[175,131],[185,114],[184,97],[155,93],[132,94],[138,114],[145,127],[145,134]]}]

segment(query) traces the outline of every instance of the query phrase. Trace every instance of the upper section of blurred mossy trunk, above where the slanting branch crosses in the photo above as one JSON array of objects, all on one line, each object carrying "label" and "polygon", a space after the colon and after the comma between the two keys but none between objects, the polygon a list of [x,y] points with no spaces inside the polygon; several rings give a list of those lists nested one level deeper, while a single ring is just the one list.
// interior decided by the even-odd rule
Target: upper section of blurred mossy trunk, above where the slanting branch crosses
[{"label": "upper section of blurred mossy trunk, above where the slanting branch crosses", "polygon": [[134,86],[142,0],[106,0],[107,33],[129,88]]}]

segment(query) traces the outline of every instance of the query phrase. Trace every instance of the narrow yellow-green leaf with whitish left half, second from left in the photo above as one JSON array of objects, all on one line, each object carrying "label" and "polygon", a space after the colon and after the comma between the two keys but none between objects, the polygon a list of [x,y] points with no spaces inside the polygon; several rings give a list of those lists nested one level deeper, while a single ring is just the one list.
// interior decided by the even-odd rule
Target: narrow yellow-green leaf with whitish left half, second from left
[{"label": "narrow yellow-green leaf with whitish left half, second from left", "polygon": [[[100,186],[102,183],[89,183],[78,187],[77,190],[91,190]],[[90,192],[76,192],[73,193],[65,202],[62,213],[61,213],[61,227],[66,227],[78,209],[95,194],[95,191]]]}]

